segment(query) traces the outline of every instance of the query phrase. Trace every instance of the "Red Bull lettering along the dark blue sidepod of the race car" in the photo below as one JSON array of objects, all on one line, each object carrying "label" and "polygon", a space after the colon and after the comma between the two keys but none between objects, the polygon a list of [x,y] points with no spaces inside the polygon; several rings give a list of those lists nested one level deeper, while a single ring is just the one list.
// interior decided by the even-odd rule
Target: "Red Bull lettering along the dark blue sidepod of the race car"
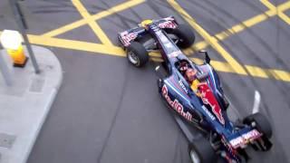
[{"label": "Red Bull lettering along the dark blue sidepod of the race car", "polygon": [[185,112],[183,110],[183,106],[179,103],[177,99],[171,101],[169,97],[169,90],[166,85],[163,85],[162,87],[162,95],[164,96],[165,100],[169,103],[169,105],[173,110],[176,110],[185,119],[192,121],[192,115],[189,113],[189,111]]}]

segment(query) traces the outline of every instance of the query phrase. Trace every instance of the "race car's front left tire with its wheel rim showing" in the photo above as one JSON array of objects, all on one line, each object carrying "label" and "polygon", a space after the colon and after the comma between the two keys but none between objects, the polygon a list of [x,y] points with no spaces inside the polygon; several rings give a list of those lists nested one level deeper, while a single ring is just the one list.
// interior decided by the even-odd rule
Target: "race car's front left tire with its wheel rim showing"
[{"label": "race car's front left tire with its wheel rim showing", "polygon": [[149,61],[145,47],[138,42],[131,42],[127,47],[127,58],[136,67],[142,67]]}]

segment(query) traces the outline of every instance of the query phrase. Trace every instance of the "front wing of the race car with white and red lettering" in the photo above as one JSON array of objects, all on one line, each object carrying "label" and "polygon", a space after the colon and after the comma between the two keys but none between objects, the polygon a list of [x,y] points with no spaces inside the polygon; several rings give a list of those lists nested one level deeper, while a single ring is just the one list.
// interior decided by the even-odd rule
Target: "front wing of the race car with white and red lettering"
[{"label": "front wing of the race car with white and red lettering", "polygon": [[[118,34],[118,39],[124,48],[129,46],[135,39],[143,36],[144,34],[147,34],[148,31],[145,29],[146,23],[143,24],[146,21],[149,20],[145,20],[138,24],[138,26]],[[161,29],[175,29],[179,25],[173,16],[159,20],[150,20],[150,23],[158,24]]]}]

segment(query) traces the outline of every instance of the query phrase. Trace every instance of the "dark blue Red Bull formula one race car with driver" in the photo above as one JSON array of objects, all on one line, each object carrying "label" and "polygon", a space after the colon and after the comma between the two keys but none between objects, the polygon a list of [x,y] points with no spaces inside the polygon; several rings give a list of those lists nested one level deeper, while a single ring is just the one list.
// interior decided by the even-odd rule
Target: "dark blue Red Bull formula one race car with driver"
[{"label": "dark blue Red Bull formula one race car with driver", "polygon": [[[208,53],[201,52],[205,55],[205,62],[198,65],[179,50],[179,47],[187,48],[195,41],[189,26],[178,24],[172,16],[145,20],[118,34],[118,38],[129,62],[136,67],[149,61],[149,52],[160,51],[166,71],[159,75],[158,80],[162,99],[170,110],[202,134],[198,140],[189,142],[192,162],[217,162],[218,156],[226,162],[242,162],[249,158],[245,150],[247,146],[263,151],[271,149],[272,129],[261,113],[249,115],[239,122],[229,120],[229,102],[218,73],[210,65]],[[189,80],[189,70],[195,77],[193,81]]]}]

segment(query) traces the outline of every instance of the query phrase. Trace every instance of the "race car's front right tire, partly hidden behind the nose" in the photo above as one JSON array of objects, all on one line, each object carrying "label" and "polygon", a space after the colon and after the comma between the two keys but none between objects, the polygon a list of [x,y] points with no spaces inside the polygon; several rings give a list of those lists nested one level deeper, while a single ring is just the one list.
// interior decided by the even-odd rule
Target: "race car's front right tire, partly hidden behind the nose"
[{"label": "race car's front right tire, partly hidden behind the nose", "polygon": [[179,42],[177,45],[180,48],[188,48],[196,40],[195,34],[187,24],[179,24],[176,29],[170,30],[169,34],[175,34],[177,37],[179,37]]}]

